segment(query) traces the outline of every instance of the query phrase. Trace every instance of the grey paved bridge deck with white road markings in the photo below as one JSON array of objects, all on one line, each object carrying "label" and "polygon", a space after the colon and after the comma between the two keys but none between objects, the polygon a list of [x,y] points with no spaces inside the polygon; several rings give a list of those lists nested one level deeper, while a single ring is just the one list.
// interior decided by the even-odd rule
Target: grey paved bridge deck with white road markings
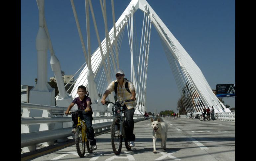
[{"label": "grey paved bridge deck with white road markings", "polygon": [[[136,140],[135,147],[131,151],[128,152],[123,143],[121,154],[116,156],[112,151],[109,132],[96,137],[98,149],[92,154],[86,153],[82,160],[235,160],[235,122],[163,119],[168,123],[166,151],[160,148],[161,140],[157,139],[157,154],[153,153],[151,122],[145,120],[135,123]],[[36,153],[21,154],[21,160],[81,160],[74,141],[71,140],[70,143],[71,145],[67,147],[57,146],[44,152],[38,150]]]}]

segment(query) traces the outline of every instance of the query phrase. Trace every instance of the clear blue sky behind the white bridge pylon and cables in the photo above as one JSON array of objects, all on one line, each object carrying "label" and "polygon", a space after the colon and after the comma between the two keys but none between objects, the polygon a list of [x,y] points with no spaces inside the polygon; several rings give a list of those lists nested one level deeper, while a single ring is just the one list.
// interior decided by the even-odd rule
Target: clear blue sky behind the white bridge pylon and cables
[{"label": "clear blue sky behind the white bridge pylon and cables", "polygon": [[[112,28],[111,1],[107,0],[108,28]],[[235,0],[148,0],[149,5],[165,23],[201,69],[212,89],[216,84],[235,83]],[[86,43],[84,0],[74,1]],[[130,1],[114,0],[117,20]],[[99,1],[92,1],[100,39],[105,38],[104,22]],[[140,41],[143,12],[135,13]],[[61,70],[73,75],[85,62],[71,3],[69,0],[45,0],[45,18],[55,55]],[[92,19],[91,20],[91,25]],[[34,86],[37,78],[37,50],[35,39],[39,28],[35,0],[21,1],[21,84]],[[127,29],[126,29],[127,30]],[[161,46],[161,47],[160,47]],[[91,50],[98,47],[94,26],[91,26]],[[53,77],[48,51],[48,79]],[[130,78],[130,52],[125,32],[119,53],[120,68]],[[174,110],[180,98],[171,68],[161,41],[152,25],[147,78],[147,111]],[[235,107],[235,99],[224,99]]]}]

